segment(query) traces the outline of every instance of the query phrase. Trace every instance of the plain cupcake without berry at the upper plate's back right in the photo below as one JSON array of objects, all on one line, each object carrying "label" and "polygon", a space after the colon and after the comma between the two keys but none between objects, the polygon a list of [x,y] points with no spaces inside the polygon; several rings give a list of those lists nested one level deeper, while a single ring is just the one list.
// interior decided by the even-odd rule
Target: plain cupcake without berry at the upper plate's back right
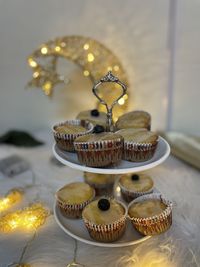
[{"label": "plain cupcake without berry at the upper plate's back right", "polygon": [[131,111],[120,116],[116,122],[117,129],[146,128],[151,129],[151,115],[146,111]]}]

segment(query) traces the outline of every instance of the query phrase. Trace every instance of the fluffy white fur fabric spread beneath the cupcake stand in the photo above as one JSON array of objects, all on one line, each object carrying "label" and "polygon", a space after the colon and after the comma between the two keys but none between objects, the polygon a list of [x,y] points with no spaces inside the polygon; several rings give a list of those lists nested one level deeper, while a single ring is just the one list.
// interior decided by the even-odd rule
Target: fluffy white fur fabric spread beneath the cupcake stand
[{"label": "fluffy white fur fabric spread beneath the cupcake stand", "polygon": [[[82,173],[52,165],[50,157],[53,140],[46,133],[38,137],[46,141],[45,146],[19,149],[1,145],[0,158],[19,154],[29,160],[36,174],[36,186],[26,191],[24,201],[18,207],[35,201],[37,196],[38,201],[44,202],[52,210],[56,189],[81,177]],[[200,266],[199,172],[170,156],[165,163],[148,173],[153,177],[156,187],[176,203],[171,229],[145,243],[125,248],[99,248],[78,242],[78,262],[87,267]],[[13,187],[23,187],[30,183],[30,173],[12,179],[0,179],[0,195]],[[31,237],[32,233],[23,232],[0,234],[0,267],[18,262],[23,247]],[[24,255],[24,262],[35,267],[64,267],[72,261],[73,253],[73,239],[59,228],[51,215],[37,231],[37,236]]]}]

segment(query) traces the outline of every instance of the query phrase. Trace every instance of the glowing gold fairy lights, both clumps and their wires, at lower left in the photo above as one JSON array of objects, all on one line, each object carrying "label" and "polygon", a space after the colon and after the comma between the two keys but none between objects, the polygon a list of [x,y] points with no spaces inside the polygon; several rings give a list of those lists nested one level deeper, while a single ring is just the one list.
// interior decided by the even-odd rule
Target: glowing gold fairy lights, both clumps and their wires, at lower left
[{"label": "glowing gold fairy lights, both clumps and their wires, at lower left", "polygon": [[[32,170],[31,173],[32,183],[30,185],[26,185],[23,188],[13,188],[0,197],[0,234],[11,234],[16,231],[33,233],[31,239],[27,241],[22,250],[19,262],[12,262],[8,267],[33,267],[32,264],[23,261],[24,255],[30,244],[34,241],[38,228],[52,215],[52,212],[38,201],[34,201],[34,203],[24,208],[17,208],[25,198],[26,190],[36,186],[35,174]],[[53,192],[51,193],[53,194]],[[38,199],[38,196],[35,196],[35,199]],[[67,267],[84,267],[81,263],[76,262],[77,241],[74,241],[74,258],[72,262],[67,264]]]}]

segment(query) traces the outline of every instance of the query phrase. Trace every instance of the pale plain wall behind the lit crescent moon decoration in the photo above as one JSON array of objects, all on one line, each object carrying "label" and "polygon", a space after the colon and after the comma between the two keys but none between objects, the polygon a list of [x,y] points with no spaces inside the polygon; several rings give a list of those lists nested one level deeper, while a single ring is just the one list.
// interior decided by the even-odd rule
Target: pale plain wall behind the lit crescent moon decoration
[{"label": "pale plain wall behind the lit crescent moon decoration", "polygon": [[[172,129],[197,134],[200,91],[198,47],[200,2],[178,1],[176,75]],[[144,109],[154,129],[166,128],[168,101],[169,1],[161,0],[0,0],[0,133],[50,127],[93,108],[91,82],[65,63],[69,85],[48,99],[25,90],[31,71],[26,58],[40,44],[65,35],[95,38],[121,59],[130,80],[129,109]]]}]

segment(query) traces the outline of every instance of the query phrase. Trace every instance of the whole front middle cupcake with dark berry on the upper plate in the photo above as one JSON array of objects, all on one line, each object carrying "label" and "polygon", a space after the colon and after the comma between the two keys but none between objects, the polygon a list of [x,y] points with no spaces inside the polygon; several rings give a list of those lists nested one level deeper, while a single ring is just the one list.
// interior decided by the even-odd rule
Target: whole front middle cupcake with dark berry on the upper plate
[{"label": "whole front middle cupcake with dark berry on the upper plate", "polygon": [[80,136],[74,141],[79,161],[89,167],[105,167],[118,164],[122,158],[123,138],[111,132],[103,132],[100,125],[94,133]]}]

